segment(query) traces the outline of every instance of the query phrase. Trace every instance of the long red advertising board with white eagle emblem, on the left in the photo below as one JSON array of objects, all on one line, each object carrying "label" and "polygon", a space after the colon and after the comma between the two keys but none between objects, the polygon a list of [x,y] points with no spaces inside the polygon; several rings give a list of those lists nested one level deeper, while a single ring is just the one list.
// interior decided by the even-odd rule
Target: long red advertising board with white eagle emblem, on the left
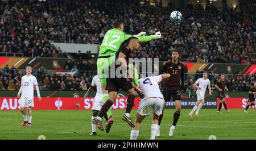
[{"label": "long red advertising board with white eagle emblem, on the left", "polygon": [[[92,108],[94,98],[42,98],[38,100],[37,97],[34,98],[35,107],[33,110],[90,110]],[[117,98],[112,106],[113,110],[126,109],[127,97]],[[139,98],[135,98],[133,109],[138,109]],[[19,110],[18,98],[0,97],[0,110]],[[80,107],[76,107],[76,104],[80,104]]]}]

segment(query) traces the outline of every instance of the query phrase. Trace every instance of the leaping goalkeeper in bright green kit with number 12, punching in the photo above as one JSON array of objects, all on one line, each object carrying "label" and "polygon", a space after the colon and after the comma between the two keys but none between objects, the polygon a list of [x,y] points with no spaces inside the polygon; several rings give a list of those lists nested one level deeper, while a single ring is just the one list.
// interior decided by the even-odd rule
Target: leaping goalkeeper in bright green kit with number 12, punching
[{"label": "leaping goalkeeper in bright green kit with number 12, punching", "polygon": [[[97,73],[102,86],[103,102],[106,102],[106,100],[109,98],[108,91],[106,90],[106,76],[108,74],[108,68],[110,64],[115,61],[115,53],[121,47],[123,41],[132,36],[123,32],[123,22],[121,19],[115,19],[112,25],[113,29],[106,32],[104,36],[97,59]],[[160,32],[156,32],[155,35],[150,36],[144,35],[146,35],[146,32],[141,32],[134,36],[137,36],[141,42],[159,39],[162,37]],[[106,125],[111,127],[112,123],[114,122],[111,110],[108,111],[108,116],[109,121],[106,123]],[[109,128],[106,127],[106,129]]]}]

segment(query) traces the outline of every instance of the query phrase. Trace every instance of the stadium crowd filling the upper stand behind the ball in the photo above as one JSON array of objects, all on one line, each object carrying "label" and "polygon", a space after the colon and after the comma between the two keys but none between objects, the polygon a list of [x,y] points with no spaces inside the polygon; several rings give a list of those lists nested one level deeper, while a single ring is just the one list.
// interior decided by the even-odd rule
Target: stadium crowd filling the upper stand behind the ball
[{"label": "stadium crowd filling the upper stand behind the ball", "polygon": [[139,1],[15,1],[0,2],[0,52],[24,56],[67,57],[51,41],[101,44],[113,19],[124,18],[125,32],[147,35],[161,31],[163,38],[142,44],[133,57],[167,60],[177,48],[186,61],[256,64],[256,16],[233,9],[180,10],[183,20],[171,23],[168,7],[140,5]]}]

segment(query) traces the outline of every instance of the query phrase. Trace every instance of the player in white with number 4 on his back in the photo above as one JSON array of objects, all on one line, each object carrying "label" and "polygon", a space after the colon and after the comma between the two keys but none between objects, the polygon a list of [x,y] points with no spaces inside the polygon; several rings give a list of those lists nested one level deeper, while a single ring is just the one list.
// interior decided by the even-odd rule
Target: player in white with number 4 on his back
[{"label": "player in white with number 4 on his back", "polygon": [[135,127],[131,130],[130,139],[136,140],[139,135],[139,127],[146,116],[150,116],[150,110],[153,111],[151,125],[151,140],[155,139],[158,131],[158,118],[164,108],[163,94],[160,91],[159,83],[170,77],[170,74],[161,74],[155,77],[146,77],[139,79],[139,87],[144,94],[144,98],[139,103]]}]

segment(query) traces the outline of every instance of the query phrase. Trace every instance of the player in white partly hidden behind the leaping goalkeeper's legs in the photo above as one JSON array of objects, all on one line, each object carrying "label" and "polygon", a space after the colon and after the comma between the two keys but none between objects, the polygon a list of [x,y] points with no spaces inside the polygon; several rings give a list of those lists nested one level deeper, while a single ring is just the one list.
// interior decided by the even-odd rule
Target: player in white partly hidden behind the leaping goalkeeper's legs
[{"label": "player in white partly hidden behind the leaping goalkeeper's legs", "polygon": [[[87,98],[92,89],[97,89],[96,95],[93,100],[93,106],[91,110],[93,111],[92,114],[92,120],[96,118],[98,115],[98,112],[100,112],[101,107],[103,106],[103,93],[102,93],[102,88],[101,88],[101,82],[100,78],[98,78],[98,75],[95,75],[92,79],[92,84],[90,85],[88,91],[85,93],[84,98]],[[108,121],[108,115],[105,115],[105,120]],[[108,133],[110,128],[106,127],[106,132]],[[90,133],[90,136],[97,135],[96,133],[96,125],[92,123],[92,133]]]}]

